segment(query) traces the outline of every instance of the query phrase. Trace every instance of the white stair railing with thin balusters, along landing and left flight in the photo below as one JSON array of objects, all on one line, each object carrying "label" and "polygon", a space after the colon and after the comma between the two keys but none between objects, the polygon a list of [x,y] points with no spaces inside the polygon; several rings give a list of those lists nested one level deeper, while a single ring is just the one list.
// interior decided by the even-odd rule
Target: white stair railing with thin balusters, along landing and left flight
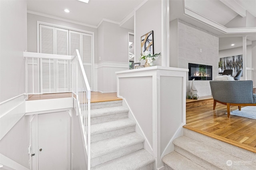
[{"label": "white stair railing with thin balusters, along landing and left flight", "polygon": [[[62,61],[70,63],[69,88],[74,99],[74,109],[79,115],[80,127],[83,133],[82,141],[84,146],[84,154],[86,157],[87,170],[90,170],[90,101],[91,90],[84,71],[79,51],[76,50],[73,56],[70,55],[53,55],[43,53],[24,52],[23,57],[26,59],[26,92],[25,94],[42,94],[42,81],[40,80],[40,61],[49,61],[49,71],[51,70],[51,61]],[[46,63],[47,64],[47,63]],[[42,70],[41,70],[42,71]],[[41,72],[42,73],[42,72]],[[47,74],[46,74],[47,76]],[[51,81],[48,76],[46,81]],[[42,79],[42,78],[41,78]],[[41,84],[39,83],[41,82]],[[51,84],[49,85],[51,86]],[[40,91],[41,87],[41,91]],[[50,87],[49,87],[50,88]],[[51,92],[51,91],[50,91]],[[50,93],[48,92],[48,93]],[[54,92],[56,93],[56,92]]]}]

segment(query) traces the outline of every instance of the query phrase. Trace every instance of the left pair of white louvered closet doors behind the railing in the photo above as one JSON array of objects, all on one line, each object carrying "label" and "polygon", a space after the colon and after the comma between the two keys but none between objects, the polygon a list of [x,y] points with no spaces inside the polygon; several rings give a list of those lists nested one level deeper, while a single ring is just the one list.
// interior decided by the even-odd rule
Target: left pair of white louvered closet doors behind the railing
[{"label": "left pair of white louvered closet doors behind the railing", "polygon": [[[68,55],[68,30],[40,25],[40,53]],[[41,92],[69,91],[67,60],[41,59]]]}]

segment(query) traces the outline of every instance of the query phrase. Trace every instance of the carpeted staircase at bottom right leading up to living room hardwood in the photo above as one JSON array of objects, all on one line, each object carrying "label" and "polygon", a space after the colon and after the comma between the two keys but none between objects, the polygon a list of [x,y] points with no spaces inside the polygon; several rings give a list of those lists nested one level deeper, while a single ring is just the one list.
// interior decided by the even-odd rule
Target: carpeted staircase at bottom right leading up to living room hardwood
[{"label": "carpeted staircase at bottom right leading up to living room hardwood", "polygon": [[174,151],[162,158],[165,170],[256,169],[256,153],[188,129],[173,143]]}]

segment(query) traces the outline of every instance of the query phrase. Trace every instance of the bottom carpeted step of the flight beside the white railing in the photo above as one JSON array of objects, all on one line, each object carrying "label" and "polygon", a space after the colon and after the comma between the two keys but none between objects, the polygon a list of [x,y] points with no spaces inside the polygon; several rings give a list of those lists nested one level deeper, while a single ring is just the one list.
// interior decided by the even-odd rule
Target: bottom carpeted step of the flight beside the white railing
[{"label": "bottom carpeted step of the flight beside the white railing", "polygon": [[154,156],[145,149],[94,166],[91,170],[153,170]]}]

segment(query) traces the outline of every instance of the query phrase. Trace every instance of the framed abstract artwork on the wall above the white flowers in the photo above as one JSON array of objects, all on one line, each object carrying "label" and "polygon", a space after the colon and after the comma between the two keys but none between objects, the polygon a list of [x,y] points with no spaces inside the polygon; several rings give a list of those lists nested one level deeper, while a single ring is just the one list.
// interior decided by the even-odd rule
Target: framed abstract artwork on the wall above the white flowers
[{"label": "framed abstract artwork on the wall above the white flowers", "polygon": [[140,37],[141,42],[141,53],[144,51],[149,51],[151,54],[154,54],[154,45],[153,45],[153,31],[146,33]]}]

